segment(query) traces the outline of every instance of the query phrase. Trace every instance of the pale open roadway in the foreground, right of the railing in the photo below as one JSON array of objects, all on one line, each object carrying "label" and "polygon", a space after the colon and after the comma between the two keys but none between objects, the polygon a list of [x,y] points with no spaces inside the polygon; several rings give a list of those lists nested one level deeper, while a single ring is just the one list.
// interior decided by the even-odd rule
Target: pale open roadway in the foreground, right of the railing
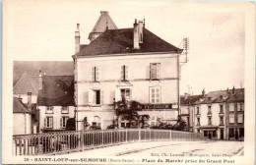
[{"label": "pale open roadway in the foreground, right of the railing", "polygon": [[156,141],[114,145],[73,152],[74,156],[233,156],[243,154],[243,141]]}]

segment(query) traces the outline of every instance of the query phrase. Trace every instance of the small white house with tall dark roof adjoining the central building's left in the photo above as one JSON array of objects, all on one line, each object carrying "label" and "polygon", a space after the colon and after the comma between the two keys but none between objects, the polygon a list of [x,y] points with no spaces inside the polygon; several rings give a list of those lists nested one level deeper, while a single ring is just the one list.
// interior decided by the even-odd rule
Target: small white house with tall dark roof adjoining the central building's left
[{"label": "small white house with tall dark roof adjoining the central building's left", "polygon": [[37,107],[40,132],[65,130],[74,118],[74,76],[42,76]]}]

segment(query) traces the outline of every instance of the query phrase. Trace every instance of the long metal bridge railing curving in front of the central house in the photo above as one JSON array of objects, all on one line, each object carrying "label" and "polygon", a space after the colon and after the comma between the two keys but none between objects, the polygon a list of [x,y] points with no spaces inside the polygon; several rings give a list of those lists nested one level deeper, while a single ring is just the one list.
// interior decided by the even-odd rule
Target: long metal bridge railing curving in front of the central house
[{"label": "long metal bridge railing curving in front of the central house", "polygon": [[13,154],[56,154],[128,142],[202,139],[198,133],[152,129],[58,132],[13,136]]}]

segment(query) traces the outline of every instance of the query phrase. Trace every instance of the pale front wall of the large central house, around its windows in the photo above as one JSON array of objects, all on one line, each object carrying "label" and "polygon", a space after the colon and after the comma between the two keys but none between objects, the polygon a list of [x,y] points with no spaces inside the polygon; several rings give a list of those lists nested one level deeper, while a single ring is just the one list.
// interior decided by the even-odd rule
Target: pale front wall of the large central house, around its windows
[{"label": "pale front wall of the large central house, around its windows", "polygon": [[[160,81],[149,81],[150,64],[160,63]],[[128,66],[129,83],[121,83],[121,66]],[[99,83],[93,83],[92,69],[98,67]],[[75,96],[78,105],[78,121],[90,115],[99,116],[106,124],[102,124],[104,129],[112,119],[116,89],[131,88],[132,100],[141,103],[150,103],[150,87],[160,86],[160,103],[177,104],[177,61],[174,54],[158,55],[133,55],[133,56],[108,56],[79,58],[77,60],[77,84]],[[92,108],[89,105],[89,90],[100,89],[103,91],[103,104]],[[100,114],[98,114],[100,112]],[[177,112],[167,112],[165,119],[177,119]],[[83,129],[82,124],[79,130]]]}]

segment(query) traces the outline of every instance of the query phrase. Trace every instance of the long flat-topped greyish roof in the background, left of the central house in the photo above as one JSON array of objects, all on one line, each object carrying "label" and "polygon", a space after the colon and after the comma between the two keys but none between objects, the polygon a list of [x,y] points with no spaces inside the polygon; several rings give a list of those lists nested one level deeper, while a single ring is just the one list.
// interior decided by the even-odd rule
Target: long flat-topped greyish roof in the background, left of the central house
[{"label": "long flat-topped greyish roof in the background, left of the central house", "polygon": [[74,75],[73,61],[14,61],[13,85],[15,85],[26,72],[34,85],[38,85],[39,70],[51,76]]}]

